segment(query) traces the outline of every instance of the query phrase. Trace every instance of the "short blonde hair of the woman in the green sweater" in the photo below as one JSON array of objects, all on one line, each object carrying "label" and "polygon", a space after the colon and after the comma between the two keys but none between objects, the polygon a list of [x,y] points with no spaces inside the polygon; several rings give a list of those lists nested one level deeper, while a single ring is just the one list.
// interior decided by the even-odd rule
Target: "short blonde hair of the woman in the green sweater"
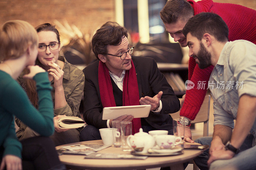
[{"label": "short blonde hair of the woman in the green sweater", "polygon": [[28,22],[7,21],[0,29],[0,60],[19,58],[29,45],[37,44],[36,30]]}]

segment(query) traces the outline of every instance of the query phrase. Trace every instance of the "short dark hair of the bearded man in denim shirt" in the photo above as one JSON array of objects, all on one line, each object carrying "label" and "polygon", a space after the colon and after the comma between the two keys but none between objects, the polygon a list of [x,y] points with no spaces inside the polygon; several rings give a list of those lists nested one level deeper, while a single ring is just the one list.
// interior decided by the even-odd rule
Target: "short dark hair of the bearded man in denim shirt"
[{"label": "short dark hair of the bearded man in denim shirt", "polygon": [[223,19],[212,12],[201,12],[190,18],[184,26],[182,33],[187,36],[188,33],[202,40],[205,33],[214,36],[217,41],[228,41],[228,26]]}]

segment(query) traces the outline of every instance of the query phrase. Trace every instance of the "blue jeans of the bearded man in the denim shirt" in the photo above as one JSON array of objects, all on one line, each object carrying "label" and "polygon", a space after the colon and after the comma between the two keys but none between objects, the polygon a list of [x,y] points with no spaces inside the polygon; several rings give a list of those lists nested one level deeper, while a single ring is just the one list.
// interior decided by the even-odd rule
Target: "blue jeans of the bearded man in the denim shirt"
[{"label": "blue jeans of the bearded man in the denim shirt", "polygon": [[[227,160],[215,160],[210,166],[213,169],[236,169],[236,170],[250,170],[256,169],[256,146],[252,147],[253,136],[248,135],[244,143],[240,147],[241,151],[233,158]],[[212,137],[201,137],[195,140],[199,144],[207,144],[211,146]],[[209,159],[209,149],[205,150],[203,154],[194,159],[196,165],[200,170],[207,170],[207,160]]]}]

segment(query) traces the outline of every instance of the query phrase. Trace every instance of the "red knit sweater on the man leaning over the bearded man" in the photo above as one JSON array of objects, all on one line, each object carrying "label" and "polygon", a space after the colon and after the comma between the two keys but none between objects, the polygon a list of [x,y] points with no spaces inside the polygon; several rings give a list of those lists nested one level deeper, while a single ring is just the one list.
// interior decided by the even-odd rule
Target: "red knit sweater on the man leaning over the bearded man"
[{"label": "red knit sweater on the man leaning over the bearded man", "polygon": [[[256,44],[256,11],[241,5],[228,3],[215,3],[212,0],[195,2],[188,0],[194,9],[194,14],[200,12],[213,12],[226,22],[229,29],[228,39],[247,40]],[[200,69],[193,57],[189,58],[188,79],[195,83],[193,89],[186,91],[184,104],[180,110],[181,116],[194,120],[207,92],[208,81],[213,70],[213,65]],[[198,81],[205,81],[204,89],[197,89]]]}]

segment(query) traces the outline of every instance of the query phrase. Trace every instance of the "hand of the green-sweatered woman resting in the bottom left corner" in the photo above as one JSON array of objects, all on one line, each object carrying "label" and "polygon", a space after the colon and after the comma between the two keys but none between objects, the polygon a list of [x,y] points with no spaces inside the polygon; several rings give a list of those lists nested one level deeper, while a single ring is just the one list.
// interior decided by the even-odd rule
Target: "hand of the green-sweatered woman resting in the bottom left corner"
[{"label": "hand of the green-sweatered woman resting in the bottom left corner", "polygon": [[0,170],[22,170],[21,159],[15,155],[5,155],[2,159]]}]

